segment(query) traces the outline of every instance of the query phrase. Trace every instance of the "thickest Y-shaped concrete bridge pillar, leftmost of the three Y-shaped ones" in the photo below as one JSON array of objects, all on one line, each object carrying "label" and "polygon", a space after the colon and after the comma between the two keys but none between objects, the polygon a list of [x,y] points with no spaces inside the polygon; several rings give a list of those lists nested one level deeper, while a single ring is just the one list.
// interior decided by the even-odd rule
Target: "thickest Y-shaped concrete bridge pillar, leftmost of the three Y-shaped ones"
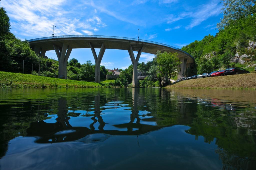
[{"label": "thickest Y-shaped concrete bridge pillar, leftmost of the three Y-shaped ones", "polygon": [[59,74],[58,78],[67,79],[67,61],[72,48],[63,43],[62,47],[53,44],[54,50],[59,60]]}]

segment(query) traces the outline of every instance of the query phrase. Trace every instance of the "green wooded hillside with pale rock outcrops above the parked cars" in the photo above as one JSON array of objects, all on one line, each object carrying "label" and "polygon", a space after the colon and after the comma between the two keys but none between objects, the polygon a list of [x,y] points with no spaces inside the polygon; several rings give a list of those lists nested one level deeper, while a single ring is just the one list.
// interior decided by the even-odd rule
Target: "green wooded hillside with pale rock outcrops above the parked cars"
[{"label": "green wooded hillside with pale rock outcrops above the parked cars", "polygon": [[256,18],[241,17],[213,35],[196,40],[182,50],[195,58],[195,65],[184,76],[192,76],[228,67],[253,71],[256,67]]}]

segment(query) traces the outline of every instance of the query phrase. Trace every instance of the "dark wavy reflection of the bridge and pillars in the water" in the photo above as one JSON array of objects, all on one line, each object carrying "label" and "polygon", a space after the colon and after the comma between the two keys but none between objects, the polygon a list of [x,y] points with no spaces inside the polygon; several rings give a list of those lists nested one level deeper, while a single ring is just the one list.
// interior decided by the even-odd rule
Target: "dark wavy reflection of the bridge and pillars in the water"
[{"label": "dark wavy reflection of the bridge and pillars in the water", "polygon": [[[38,143],[55,143],[67,141],[80,141],[84,143],[94,143],[106,140],[109,136],[115,135],[142,135],[151,131],[156,131],[162,126],[141,124],[138,114],[138,89],[132,89],[133,107],[130,115],[130,122],[113,125],[116,129],[104,130],[105,122],[101,116],[100,110],[100,93],[95,95],[94,116],[91,120],[90,128],[73,127],[70,123],[70,117],[67,116],[67,101],[64,99],[58,100],[58,117],[55,123],[46,123],[44,121],[33,122],[30,128],[27,129],[28,136],[37,136]],[[134,121],[136,122],[134,123]],[[155,121],[155,119],[149,120]],[[99,123],[98,130],[95,130],[94,124]],[[126,128],[127,131],[118,129]]]}]

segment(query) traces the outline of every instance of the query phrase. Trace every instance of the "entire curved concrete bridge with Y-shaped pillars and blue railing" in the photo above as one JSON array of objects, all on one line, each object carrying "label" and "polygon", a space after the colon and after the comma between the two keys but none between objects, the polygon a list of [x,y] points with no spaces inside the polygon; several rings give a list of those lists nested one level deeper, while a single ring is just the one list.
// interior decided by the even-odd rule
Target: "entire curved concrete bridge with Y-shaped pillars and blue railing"
[{"label": "entire curved concrete bridge with Y-shaped pillars and blue railing", "polygon": [[[133,87],[137,87],[137,65],[141,53],[156,54],[157,50],[177,52],[182,64],[178,72],[178,78],[183,77],[186,68],[194,63],[194,58],[187,52],[178,48],[158,42],[138,40],[134,38],[99,36],[99,35],[66,35],[56,37],[44,37],[27,40],[31,48],[40,56],[44,56],[48,50],[55,50],[59,60],[58,78],[67,79],[67,61],[73,48],[91,48],[95,60],[95,82],[100,82],[100,63],[106,49],[127,50],[133,65]],[[100,48],[97,56],[95,48]],[[134,56],[133,51],[138,51]]]}]

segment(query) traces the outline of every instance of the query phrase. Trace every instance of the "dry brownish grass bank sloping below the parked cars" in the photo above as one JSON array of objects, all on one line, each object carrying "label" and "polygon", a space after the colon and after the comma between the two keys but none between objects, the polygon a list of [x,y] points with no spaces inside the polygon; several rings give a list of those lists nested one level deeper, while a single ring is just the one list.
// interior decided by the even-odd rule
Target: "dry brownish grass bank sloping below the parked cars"
[{"label": "dry brownish grass bank sloping below the parked cars", "polygon": [[256,73],[184,80],[166,88],[256,89]]}]

